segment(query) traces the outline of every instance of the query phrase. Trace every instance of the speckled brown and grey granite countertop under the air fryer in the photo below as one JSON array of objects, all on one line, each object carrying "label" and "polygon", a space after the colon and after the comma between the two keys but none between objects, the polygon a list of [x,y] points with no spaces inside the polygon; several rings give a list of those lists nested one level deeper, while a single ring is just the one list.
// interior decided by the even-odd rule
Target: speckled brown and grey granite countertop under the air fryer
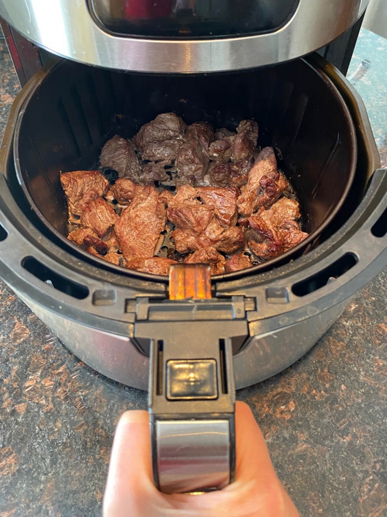
[{"label": "speckled brown and grey granite countertop under the air fryer", "polygon": [[[387,165],[387,40],[362,30],[348,78]],[[19,85],[0,42],[0,130]],[[237,393],[301,515],[387,514],[387,269],[310,353]],[[70,354],[0,281],[0,517],[101,514],[112,434],[147,394]]]}]

